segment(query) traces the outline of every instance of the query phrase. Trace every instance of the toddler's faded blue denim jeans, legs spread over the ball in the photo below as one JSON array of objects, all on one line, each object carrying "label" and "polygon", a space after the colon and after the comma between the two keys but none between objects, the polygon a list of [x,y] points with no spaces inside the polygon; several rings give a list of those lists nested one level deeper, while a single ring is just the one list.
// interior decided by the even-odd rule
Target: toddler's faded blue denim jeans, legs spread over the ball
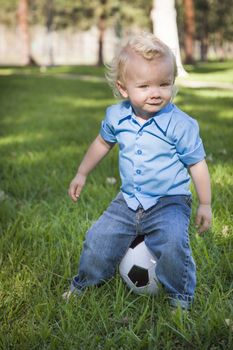
[{"label": "toddler's faded blue denim jeans, legs spread over the ball", "polygon": [[168,196],[148,210],[129,209],[121,193],[87,232],[79,273],[71,291],[98,285],[114,276],[122,257],[137,235],[157,258],[156,275],[173,306],[189,308],[196,286],[188,226],[191,197]]}]

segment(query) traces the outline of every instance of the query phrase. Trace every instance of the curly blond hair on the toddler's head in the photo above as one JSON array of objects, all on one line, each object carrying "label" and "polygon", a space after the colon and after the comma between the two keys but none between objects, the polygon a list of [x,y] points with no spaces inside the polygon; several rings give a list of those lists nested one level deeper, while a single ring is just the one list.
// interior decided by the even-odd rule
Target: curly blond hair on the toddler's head
[{"label": "curly blond hair on the toddler's head", "polygon": [[142,33],[127,39],[126,42],[123,42],[111,63],[106,64],[107,73],[105,76],[115,97],[122,97],[117,88],[117,81],[124,81],[126,63],[132,52],[141,55],[148,61],[154,58],[170,57],[173,64],[175,80],[177,75],[177,65],[175,56],[171,49],[153,34]]}]

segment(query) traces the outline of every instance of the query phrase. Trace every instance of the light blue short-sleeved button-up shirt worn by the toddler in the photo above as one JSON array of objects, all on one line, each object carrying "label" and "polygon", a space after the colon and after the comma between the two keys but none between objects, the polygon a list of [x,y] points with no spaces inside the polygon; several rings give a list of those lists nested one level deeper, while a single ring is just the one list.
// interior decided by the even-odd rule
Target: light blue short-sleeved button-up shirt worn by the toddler
[{"label": "light blue short-sleeved button-up shirt worn by the toddler", "polygon": [[129,101],[107,108],[100,135],[119,145],[121,191],[129,208],[190,195],[188,166],[205,157],[198,123],[169,103],[141,125]]}]

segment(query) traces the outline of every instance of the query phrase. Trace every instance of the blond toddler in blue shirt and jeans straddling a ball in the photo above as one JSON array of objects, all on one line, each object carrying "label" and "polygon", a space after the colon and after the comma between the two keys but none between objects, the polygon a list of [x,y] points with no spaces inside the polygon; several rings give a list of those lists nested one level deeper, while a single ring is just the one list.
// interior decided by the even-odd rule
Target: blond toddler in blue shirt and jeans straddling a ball
[{"label": "blond toddler in blue shirt and jeans straddling a ball", "polygon": [[196,271],[188,236],[190,175],[200,233],[211,225],[211,190],[198,124],[171,103],[176,73],[171,50],[149,33],[129,39],[109,67],[114,94],[124,100],[107,108],[69,196],[78,200],[88,174],[116,143],[122,186],[87,232],[79,273],[65,299],[111,278],[132,241],[145,235],[171,305],[191,306]]}]

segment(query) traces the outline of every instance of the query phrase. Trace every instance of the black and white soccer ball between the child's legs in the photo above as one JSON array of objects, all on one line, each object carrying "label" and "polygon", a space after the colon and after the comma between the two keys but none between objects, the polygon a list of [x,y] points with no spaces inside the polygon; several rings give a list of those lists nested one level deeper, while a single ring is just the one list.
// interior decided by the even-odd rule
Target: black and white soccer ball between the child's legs
[{"label": "black and white soccer ball between the child's legs", "polygon": [[154,295],[159,288],[155,267],[156,258],[148,250],[144,236],[138,236],[121,260],[119,271],[133,292]]}]

